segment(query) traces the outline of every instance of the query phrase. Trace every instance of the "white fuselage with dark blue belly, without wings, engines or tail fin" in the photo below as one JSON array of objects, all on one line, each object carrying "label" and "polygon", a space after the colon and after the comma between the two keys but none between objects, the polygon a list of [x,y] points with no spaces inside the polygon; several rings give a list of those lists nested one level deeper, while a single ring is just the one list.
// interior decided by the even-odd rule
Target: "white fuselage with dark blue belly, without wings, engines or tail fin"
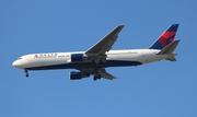
[{"label": "white fuselage with dark blue belly, without wings, engines or tail fin", "polygon": [[[102,68],[139,66],[176,56],[176,54],[157,55],[158,49],[127,49],[109,50],[106,52],[106,61],[102,62]],[[14,67],[28,70],[49,70],[49,69],[89,69],[96,65],[89,60],[71,61],[72,54],[78,52],[47,52],[31,54],[20,57],[13,62]]]}]

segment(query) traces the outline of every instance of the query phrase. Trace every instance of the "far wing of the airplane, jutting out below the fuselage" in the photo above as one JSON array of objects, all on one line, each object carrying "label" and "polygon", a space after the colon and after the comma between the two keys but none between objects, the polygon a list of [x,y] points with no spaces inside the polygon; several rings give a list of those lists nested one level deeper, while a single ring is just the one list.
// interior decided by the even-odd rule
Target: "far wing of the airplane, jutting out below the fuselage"
[{"label": "far wing of the airplane, jutting out below the fuselage", "polygon": [[104,68],[99,69],[97,71],[95,71],[94,69],[81,69],[80,71],[83,74],[92,74],[92,75],[100,74],[101,78],[108,79],[108,80],[117,79],[116,77],[107,73]]}]

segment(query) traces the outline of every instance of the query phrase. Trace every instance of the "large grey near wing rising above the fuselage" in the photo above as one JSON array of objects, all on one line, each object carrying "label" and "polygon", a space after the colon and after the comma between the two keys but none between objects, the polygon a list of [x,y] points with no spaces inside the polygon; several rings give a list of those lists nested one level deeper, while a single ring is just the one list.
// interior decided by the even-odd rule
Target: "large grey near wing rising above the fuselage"
[{"label": "large grey near wing rising above the fuselage", "polygon": [[118,37],[118,33],[123,30],[125,25],[118,25],[115,30],[113,30],[108,35],[102,38],[99,43],[96,43],[93,47],[85,51],[86,55],[105,55],[108,51]]}]

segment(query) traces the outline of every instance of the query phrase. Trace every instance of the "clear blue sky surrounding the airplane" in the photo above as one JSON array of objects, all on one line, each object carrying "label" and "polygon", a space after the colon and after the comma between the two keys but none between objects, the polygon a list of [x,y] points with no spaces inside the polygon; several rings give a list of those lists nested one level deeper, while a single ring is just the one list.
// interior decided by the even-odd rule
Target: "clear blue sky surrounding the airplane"
[{"label": "clear blue sky surrounding the airplane", "polygon": [[[1,117],[196,117],[195,0],[1,0]],[[178,23],[177,61],[109,68],[117,80],[70,81],[72,70],[12,67],[31,52],[86,50],[118,24],[113,49],[147,48]]]}]

